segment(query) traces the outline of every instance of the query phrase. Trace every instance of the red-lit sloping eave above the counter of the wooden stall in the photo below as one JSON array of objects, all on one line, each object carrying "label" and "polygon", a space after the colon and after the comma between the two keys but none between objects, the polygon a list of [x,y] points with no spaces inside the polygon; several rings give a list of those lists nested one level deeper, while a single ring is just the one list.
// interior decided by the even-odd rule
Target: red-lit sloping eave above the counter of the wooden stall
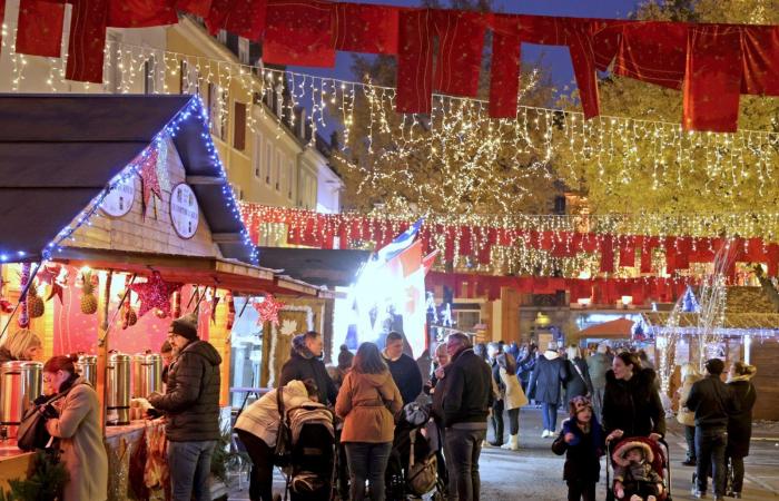
[{"label": "red-lit sloping eave above the counter of the wooden stall", "polygon": [[235,259],[68,247],[55,261],[76,267],[89,266],[139,275],[149,275],[154,271],[168,282],[215,286],[237,294],[327,297],[327,291]]}]

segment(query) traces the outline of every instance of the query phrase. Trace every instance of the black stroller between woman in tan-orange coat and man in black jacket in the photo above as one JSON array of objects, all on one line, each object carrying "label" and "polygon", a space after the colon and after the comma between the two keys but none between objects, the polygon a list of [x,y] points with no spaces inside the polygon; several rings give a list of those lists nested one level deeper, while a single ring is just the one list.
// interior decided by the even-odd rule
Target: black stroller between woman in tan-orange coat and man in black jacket
[{"label": "black stroller between woman in tan-orange coat and man in black jacket", "polygon": [[412,402],[395,425],[395,438],[386,473],[387,501],[431,495],[443,501],[445,485],[437,474],[437,441],[426,436],[430,411]]}]

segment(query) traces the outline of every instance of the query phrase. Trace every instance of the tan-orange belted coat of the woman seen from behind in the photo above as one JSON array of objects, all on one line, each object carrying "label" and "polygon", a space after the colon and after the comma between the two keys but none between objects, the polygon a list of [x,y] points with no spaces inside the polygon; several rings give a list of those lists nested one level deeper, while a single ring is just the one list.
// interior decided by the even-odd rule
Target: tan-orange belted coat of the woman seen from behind
[{"label": "tan-orange belted coat of the woman seen from behind", "polygon": [[395,414],[403,397],[389,371],[363,374],[352,370],[344,379],[335,413],[344,420],[342,442],[386,443],[395,433]]}]

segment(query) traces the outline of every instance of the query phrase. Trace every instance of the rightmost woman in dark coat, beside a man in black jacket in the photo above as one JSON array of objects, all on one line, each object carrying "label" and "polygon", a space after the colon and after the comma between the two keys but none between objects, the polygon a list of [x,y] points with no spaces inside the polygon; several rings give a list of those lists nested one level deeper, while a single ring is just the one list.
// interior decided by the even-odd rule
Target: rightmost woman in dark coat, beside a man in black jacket
[{"label": "rightmost woman in dark coat, beside a man in black jacket", "polygon": [[733,483],[730,498],[741,498],[743,488],[743,459],[749,455],[749,441],[752,438],[752,407],[757,400],[755,385],[750,381],[757,373],[755,365],[736,362],[728,373],[728,387],[739,402],[740,411],[728,419],[728,448],[726,455],[733,469]]}]

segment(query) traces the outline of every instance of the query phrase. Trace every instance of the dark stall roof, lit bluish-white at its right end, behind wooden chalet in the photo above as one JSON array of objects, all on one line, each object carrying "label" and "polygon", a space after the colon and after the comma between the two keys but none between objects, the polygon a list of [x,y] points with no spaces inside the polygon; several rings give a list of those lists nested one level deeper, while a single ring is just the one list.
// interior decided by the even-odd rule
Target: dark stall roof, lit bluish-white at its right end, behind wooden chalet
[{"label": "dark stall roof, lit bluish-white at its right end, behind wooden chalet", "polygon": [[368,261],[368,250],[259,247],[263,266],[309,284],[348,286]]}]

